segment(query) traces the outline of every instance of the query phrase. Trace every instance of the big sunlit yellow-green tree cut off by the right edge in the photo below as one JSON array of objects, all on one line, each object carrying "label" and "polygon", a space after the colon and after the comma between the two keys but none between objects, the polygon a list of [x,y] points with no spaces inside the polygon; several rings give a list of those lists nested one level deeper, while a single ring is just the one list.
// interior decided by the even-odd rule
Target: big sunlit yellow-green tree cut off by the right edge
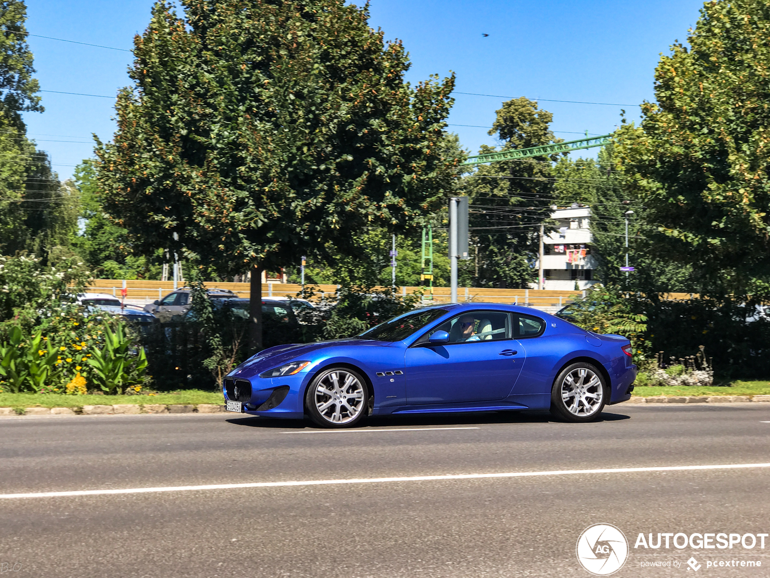
[{"label": "big sunlit yellow-green tree cut off by the right edge", "polygon": [[625,185],[648,207],[658,253],[695,291],[770,294],[770,4],[706,2],[689,48],[655,70],[657,102],[616,135]]}]

